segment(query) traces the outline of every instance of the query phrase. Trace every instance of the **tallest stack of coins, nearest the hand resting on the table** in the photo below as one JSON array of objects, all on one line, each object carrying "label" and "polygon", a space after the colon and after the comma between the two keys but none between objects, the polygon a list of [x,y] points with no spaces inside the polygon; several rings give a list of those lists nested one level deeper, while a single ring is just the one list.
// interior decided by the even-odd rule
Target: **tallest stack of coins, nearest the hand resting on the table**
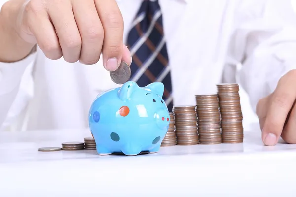
[{"label": "tallest stack of coins, nearest the hand resting on the table", "polygon": [[244,138],[243,114],[238,84],[218,84],[221,114],[222,143],[242,143]]}]

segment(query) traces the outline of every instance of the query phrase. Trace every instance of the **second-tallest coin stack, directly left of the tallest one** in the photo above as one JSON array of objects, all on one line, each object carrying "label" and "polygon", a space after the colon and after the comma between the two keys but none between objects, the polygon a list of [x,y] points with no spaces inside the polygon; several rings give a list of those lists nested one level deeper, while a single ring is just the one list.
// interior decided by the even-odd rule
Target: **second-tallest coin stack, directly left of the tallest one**
[{"label": "second-tallest coin stack, directly left of the tallest one", "polygon": [[221,127],[218,95],[195,95],[200,144],[220,144]]}]

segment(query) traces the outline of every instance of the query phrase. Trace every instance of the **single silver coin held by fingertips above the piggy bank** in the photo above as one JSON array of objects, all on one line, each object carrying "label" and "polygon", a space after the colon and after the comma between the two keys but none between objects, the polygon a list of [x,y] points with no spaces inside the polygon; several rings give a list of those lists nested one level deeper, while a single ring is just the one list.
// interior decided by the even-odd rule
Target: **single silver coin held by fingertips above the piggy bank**
[{"label": "single silver coin held by fingertips above the piggy bank", "polygon": [[131,68],[122,61],[117,70],[110,72],[110,77],[116,84],[124,84],[131,77]]}]

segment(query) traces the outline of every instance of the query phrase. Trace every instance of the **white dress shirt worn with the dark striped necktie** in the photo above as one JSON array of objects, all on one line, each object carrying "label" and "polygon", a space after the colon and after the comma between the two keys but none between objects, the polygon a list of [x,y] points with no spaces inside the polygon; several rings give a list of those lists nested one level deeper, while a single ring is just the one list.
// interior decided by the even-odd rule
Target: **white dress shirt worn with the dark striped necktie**
[{"label": "white dress shirt worn with the dark striped necktie", "polygon": [[[117,2],[126,42],[141,0]],[[255,110],[258,100],[296,67],[291,0],[159,3],[175,105],[195,104],[194,95],[216,93],[218,83],[238,82]],[[97,94],[119,86],[102,59],[95,65],[53,61],[38,48],[19,62],[0,63],[0,125],[10,130],[86,128]]]}]

